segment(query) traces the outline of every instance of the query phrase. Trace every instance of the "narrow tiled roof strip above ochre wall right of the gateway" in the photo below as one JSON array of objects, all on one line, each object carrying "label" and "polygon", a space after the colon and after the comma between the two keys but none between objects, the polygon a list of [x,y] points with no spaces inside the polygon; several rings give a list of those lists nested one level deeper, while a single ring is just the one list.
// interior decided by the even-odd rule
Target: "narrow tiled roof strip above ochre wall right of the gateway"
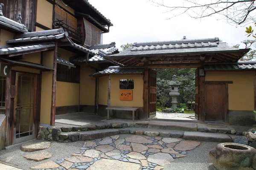
[{"label": "narrow tiled roof strip above ochre wall right of the gateway", "polygon": [[256,70],[256,62],[237,62],[204,65],[204,70],[221,71],[221,70]]}]

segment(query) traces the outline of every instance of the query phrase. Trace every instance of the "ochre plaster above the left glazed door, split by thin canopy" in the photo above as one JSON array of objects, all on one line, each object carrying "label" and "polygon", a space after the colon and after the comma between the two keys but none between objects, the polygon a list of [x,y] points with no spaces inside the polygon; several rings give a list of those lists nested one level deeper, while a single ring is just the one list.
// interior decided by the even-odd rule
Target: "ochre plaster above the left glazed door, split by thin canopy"
[{"label": "ochre plaster above the left glazed door, split by thin canopy", "polygon": [[[23,61],[40,64],[41,52],[26,54],[25,59],[23,59]],[[33,68],[20,67],[20,66],[14,66],[12,67],[12,70],[40,74],[40,70],[33,69]]]}]

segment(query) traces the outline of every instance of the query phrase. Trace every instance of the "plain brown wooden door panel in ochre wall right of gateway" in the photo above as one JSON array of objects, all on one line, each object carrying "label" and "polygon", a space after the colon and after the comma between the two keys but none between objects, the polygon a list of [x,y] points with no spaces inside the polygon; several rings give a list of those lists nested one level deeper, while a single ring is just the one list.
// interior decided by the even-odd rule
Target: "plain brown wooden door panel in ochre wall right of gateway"
[{"label": "plain brown wooden door panel in ochre wall right of gateway", "polygon": [[205,120],[225,121],[227,115],[227,85],[206,84],[205,85]]}]

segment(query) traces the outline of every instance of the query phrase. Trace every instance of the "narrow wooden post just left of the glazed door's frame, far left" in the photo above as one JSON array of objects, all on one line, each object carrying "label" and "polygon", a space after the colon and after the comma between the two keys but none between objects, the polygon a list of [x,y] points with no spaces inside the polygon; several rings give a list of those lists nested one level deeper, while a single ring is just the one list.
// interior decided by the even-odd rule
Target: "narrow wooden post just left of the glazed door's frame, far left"
[{"label": "narrow wooden post just left of the glazed door's frame, far left", "polygon": [[[10,72],[9,72],[9,77],[6,77],[6,103],[5,103],[5,106],[6,106],[6,111],[5,111],[5,115],[6,115],[6,134],[5,134],[5,137],[6,137],[6,141],[5,141],[5,146],[9,146],[11,145],[11,141],[12,139],[12,136],[10,136],[10,114],[11,114],[11,87],[12,87],[12,68],[10,69]],[[14,88],[14,92],[16,91],[15,90],[16,88]],[[13,97],[13,96],[12,96]]]}]

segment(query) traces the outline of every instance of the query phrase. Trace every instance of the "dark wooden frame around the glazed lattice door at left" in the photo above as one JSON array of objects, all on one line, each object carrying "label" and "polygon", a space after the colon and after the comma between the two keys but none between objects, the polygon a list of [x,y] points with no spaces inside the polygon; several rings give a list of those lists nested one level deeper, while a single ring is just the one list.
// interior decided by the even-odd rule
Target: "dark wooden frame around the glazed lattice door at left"
[{"label": "dark wooden frame around the glazed lattice door at left", "polygon": [[[17,91],[12,92],[13,89],[16,89],[16,75],[17,73],[21,73],[21,74],[25,74],[25,75],[32,75],[36,77],[36,86],[35,86],[35,93],[34,93],[34,100],[35,100],[35,108],[34,108],[34,123],[35,123],[35,139],[38,136],[38,127],[40,125],[40,108],[41,108],[41,99],[40,94],[41,94],[41,74],[37,74],[37,73],[30,73],[30,72],[24,72],[24,71],[15,71],[12,70],[12,79],[11,79],[11,91],[10,91],[10,96],[12,96],[13,94],[15,94],[15,96],[17,95]],[[10,142],[9,145],[14,144],[14,107],[15,107],[15,98],[10,98],[11,99],[11,106],[10,106],[10,115],[12,115],[12,119],[10,120],[10,125],[12,125],[12,127],[10,127]]]}]

